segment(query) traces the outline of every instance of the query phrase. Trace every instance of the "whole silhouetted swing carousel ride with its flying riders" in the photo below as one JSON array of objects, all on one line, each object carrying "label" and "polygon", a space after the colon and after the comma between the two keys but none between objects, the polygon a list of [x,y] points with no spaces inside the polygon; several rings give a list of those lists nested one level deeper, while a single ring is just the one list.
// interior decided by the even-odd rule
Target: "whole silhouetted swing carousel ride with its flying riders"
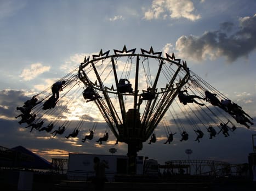
[{"label": "whole silhouetted swing carousel ride with its flying riders", "polygon": [[[156,128],[164,128],[164,144],[170,144],[175,134],[186,141],[187,128],[194,130],[200,142],[203,130],[213,139],[219,133],[229,136],[238,123],[247,128],[253,124],[241,106],[192,72],[174,53],[162,57],[152,47],[136,53],[125,45],[112,55],[110,50],[100,50],[92,58],[85,57],[77,68],[17,109],[21,111],[19,123],[31,127],[30,132],[35,128],[64,136],[72,127],[67,139],[82,130],[90,133],[82,142],[93,139],[103,118],[105,136],[97,142],[107,141],[111,131],[116,144],[126,143],[130,174],[135,174],[136,155],[143,142],[156,142]],[[88,121],[93,121],[92,128],[83,129]]]}]

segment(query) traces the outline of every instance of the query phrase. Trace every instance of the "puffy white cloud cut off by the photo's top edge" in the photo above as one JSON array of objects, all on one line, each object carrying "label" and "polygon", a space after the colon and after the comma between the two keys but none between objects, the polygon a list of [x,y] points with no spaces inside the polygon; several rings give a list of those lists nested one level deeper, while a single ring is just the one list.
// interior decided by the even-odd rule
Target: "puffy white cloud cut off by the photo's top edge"
[{"label": "puffy white cloud cut off by the photo's top edge", "polygon": [[145,12],[144,19],[166,19],[169,16],[171,19],[185,18],[196,21],[201,16],[195,15],[194,10],[194,4],[190,0],[154,0],[151,9]]}]

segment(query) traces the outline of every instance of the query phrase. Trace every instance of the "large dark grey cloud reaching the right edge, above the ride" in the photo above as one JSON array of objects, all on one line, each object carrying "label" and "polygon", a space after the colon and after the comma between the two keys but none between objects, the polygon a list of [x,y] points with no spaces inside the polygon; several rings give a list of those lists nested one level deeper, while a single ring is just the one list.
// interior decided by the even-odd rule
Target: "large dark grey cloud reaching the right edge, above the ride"
[{"label": "large dark grey cloud reaching the right edge, above the ride", "polygon": [[194,59],[194,61],[205,61],[225,57],[231,63],[237,58],[247,58],[249,53],[256,48],[256,14],[252,17],[239,19],[240,26],[237,31],[230,35],[233,23],[221,23],[218,31],[206,31],[200,37],[195,35],[183,35],[175,44],[179,56]]}]

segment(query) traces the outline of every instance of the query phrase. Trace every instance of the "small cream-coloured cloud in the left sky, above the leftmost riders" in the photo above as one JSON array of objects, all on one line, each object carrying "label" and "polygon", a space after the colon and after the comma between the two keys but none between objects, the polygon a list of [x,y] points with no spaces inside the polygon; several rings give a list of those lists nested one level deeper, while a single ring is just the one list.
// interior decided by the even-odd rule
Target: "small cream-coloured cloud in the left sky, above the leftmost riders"
[{"label": "small cream-coloured cloud in the left sky, above the leftmost riders", "polygon": [[50,66],[44,66],[41,63],[34,63],[30,65],[29,69],[22,70],[20,77],[25,81],[35,79],[38,75],[43,74],[45,71],[49,71]]}]

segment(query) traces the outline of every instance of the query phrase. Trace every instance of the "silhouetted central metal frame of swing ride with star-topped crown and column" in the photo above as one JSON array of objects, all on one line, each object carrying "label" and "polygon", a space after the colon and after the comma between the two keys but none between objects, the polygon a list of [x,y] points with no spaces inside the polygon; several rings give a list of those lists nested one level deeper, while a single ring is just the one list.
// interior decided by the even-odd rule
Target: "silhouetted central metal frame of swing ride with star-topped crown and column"
[{"label": "silhouetted central metal frame of swing ride with star-topped crown and column", "polygon": [[[78,72],[78,77],[84,85],[93,87],[94,93],[98,97],[94,100],[95,104],[117,140],[128,144],[127,155],[129,157],[130,174],[135,172],[136,152],[141,150],[143,142],[150,138],[153,130],[160,123],[170,104],[177,96],[178,91],[187,83],[190,77],[186,62],[183,61],[181,64],[181,60],[176,59],[174,54],[170,56],[166,53],[166,58],[164,58],[161,57],[162,52],[154,52],[152,47],[149,51],[141,49],[141,53],[135,53],[135,50],[127,50],[124,46],[122,51],[114,50],[114,55],[109,55],[110,51],[103,53],[101,50],[99,55],[93,55],[93,59],[85,58]],[[132,92],[123,92],[118,89],[118,81],[122,78],[123,73],[123,71],[121,73],[120,68],[125,70],[127,64],[127,62],[123,62],[122,58],[124,57],[130,59],[129,63],[132,63],[133,59],[135,60],[134,73],[129,73],[129,80],[133,80],[132,87],[134,87],[134,90]],[[146,99],[146,105],[143,108],[140,99],[146,91],[143,89],[145,86],[140,86],[139,71],[140,68],[145,67],[143,61],[146,59],[147,61],[149,59],[155,60],[158,69],[150,87],[155,93],[155,97],[149,100]],[[113,83],[110,83],[109,86],[104,83],[107,76],[102,74],[107,72],[103,68],[103,62],[110,63],[109,68],[113,76]],[[121,64],[124,65],[120,66]],[[163,79],[163,76],[166,75],[163,73],[163,67],[174,68],[174,73],[172,76],[168,76],[167,81],[160,83],[160,79]],[[149,69],[150,67],[147,68],[147,70]],[[109,71],[107,74],[109,74]],[[152,71],[150,76],[152,77]],[[118,105],[114,103],[116,98],[118,99]],[[133,103],[128,110],[125,103],[127,99],[132,99]],[[140,117],[141,113],[143,115]]]}]

